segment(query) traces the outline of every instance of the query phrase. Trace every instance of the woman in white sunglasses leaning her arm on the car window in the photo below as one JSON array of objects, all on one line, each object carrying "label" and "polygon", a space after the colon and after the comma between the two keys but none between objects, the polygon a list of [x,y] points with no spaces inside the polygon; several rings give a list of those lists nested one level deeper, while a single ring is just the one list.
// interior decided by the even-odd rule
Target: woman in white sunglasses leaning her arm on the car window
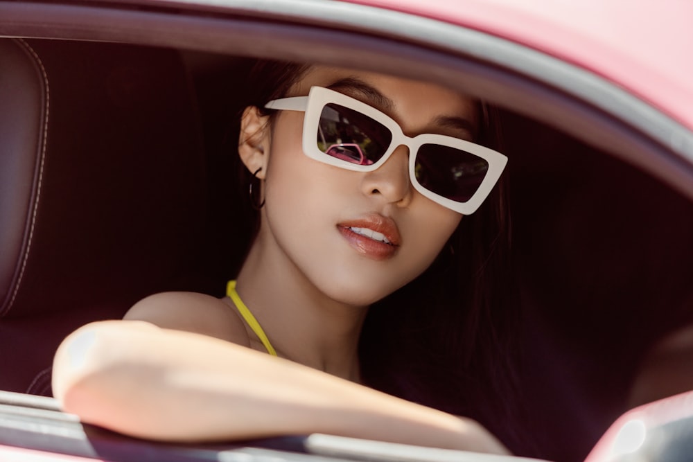
[{"label": "woman in white sunglasses leaning her arm on the car window", "polygon": [[471,142],[486,112],[377,73],[265,63],[253,75],[238,159],[258,227],[229,296],[157,294],[80,328],[55,357],[56,398],[143,438],[322,432],[506,452],[470,418],[369,388],[468,416],[494,411],[509,383],[508,317],[489,283],[505,157]]}]

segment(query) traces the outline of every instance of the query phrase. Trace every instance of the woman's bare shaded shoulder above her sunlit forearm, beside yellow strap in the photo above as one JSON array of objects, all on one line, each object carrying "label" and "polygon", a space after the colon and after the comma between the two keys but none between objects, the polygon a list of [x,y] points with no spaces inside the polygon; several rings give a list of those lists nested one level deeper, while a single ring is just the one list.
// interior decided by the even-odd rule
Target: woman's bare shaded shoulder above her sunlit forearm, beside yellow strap
[{"label": "woman's bare shaded shoulder above her sunlit forearm, beside yellow strap", "polygon": [[227,298],[196,292],[162,292],[137,302],[123,319],[148,321],[161,328],[250,345],[245,325]]}]

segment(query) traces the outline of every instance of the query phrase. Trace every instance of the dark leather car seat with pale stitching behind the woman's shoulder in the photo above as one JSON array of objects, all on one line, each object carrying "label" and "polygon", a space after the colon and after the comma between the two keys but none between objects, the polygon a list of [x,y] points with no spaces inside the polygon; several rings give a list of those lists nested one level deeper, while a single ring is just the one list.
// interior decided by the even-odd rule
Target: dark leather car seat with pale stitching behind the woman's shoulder
[{"label": "dark leather car seat with pale stitching behind the woman's shoulder", "polygon": [[191,89],[175,51],[0,39],[0,389],[50,395],[69,332],[197,289]]}]

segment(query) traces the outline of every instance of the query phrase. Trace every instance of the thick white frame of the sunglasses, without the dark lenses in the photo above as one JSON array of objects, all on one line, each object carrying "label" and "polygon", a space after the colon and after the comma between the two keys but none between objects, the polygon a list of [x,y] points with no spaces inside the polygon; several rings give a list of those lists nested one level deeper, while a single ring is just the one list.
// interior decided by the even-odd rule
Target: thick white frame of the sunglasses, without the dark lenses
[{"label": "thick white frame of the sunglasses, without the dark lenses", "polygon": [[[392,133],[392,142],[390,143],[385,154],[377,162],[371,165],[360,165],[349,161],[333,157],[325,152],[322,152],[315,143],[315,136],[319,130],[320,116],[325,105],[330,103],[341,105],[349,109],[358,111],[365,116],[368,116],[374,121],[382,124],[387,130]],[[327,89],[324,87],[311,87],[308,96],[292,96],[289,98],[279,98],[272,100],[265,105],[267,109],[281,109],[288,111],[305,112],[304,127],[303,127],[303,150],[306,156],[310,159],[326,163],[331,166],[353,170],[356,172],[372,172],[383,166],[387,159],[392,156],[392,153],[401,145],[409,148],[409,177],[414,188],[424,197],[428,197],[433,202],[441,206],[450,208],[451,210],[462,213],[462,215],[470,215],[488,197],[489,193],[500,178],[507,164],[507,157],[485,146],[472,143],[453,136],[440,134],[423,133],[414,137],[407,136],[402,131],[399,124],[393,118],[380,112],[375,107],[367,105],[356,98],[351,98],[338,91]],[[419,148],[424,144],[444,145],[450,148],[459,149],[475,156],[481,157],[489,164],[489,170],[482,180],[482,183],[477,188],[476,192],[466,202],[456,202],[447,197],[433,193],[431,190],[424,188],[416,179],[414,169],[416,167],[416,154]],[[414,155],[412,155],[414,154]]]}]

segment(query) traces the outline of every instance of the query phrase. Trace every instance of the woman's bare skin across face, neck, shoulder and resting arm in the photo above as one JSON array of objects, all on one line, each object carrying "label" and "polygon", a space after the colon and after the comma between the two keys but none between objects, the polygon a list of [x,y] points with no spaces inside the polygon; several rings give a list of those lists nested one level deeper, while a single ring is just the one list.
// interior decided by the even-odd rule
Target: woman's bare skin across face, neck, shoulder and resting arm
[{"label": "woman's bare skin across face, neck, shoulder and resting arm", "polygon": [[[288,96],[313,85],[378,107],[410,136],[473,137],[473,101],[442,87],[314,66]],[[238,148],[249,172],[261,169],[265,205],[237,290],[279,358],[230,299],[157,294],[125,321],[91,323],[63,342],[56,398],[87,422],[165,441],[323,432],[506,453],[473,420],[358,385],[369,305],[419,276],[462,215],[414,189],[407,148],[373,172],[343,170],[304,155],[302,121],[281,111],[270,122],[249,107]]]}]

